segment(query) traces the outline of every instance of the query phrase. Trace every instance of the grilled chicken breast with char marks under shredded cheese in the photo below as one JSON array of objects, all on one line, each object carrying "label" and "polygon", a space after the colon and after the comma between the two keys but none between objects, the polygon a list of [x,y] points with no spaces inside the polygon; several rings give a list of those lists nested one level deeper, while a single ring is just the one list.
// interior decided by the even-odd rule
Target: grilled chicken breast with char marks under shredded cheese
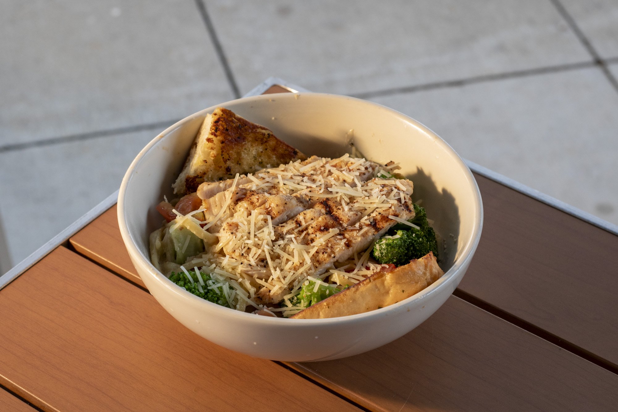
[{"label": "grilled chicken breast with char marks under shredded cheese", "polygon": [[206,221],[219,217],[209,229],[219,238],[213,252],[253,288],[268,283],[256,302],[277,303],[308,275],[320,276],[336,260],[366,249],[397,223],[389,215],[413,216],[412,182],[373,178],[384,167],[349,157],[310,158],[258,171],[247,183],[239,177],[234,188],[233,180],[204,184],[200,194],[214,193],[204,200]]}]

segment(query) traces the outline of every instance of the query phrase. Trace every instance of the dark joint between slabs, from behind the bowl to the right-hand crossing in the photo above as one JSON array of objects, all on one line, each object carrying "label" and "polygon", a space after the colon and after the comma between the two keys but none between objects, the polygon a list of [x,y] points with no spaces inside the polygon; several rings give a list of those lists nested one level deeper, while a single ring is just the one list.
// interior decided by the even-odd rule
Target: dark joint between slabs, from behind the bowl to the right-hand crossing
[{"label": "dark joint between slabs, from behind the bowl to the right-hand crossing", "polygon": [[597,63],[594,61],[582,61],[582,62],[577,62],[577,63],[561,64],[558,66],[535,67],[534,69],[525,69],[525,70],[519,70],[519,71],[513,71],[513,72],[483,74],[483,75],[479,75],[475,77],[468,77],[467,79],[446,80],[443,82],[433,82],[433,83],[417,84],[417,85],[410,85],[410,86],[404,86],[404,87],[387,88],[383,90],[376,90],[375,92],[355,93],[352,95],[352,97],[373,98],[373,97],[395,95],[395,94],[400,94],[400,93],[413,93],[413,92],[421,92],[423,90],[434,90],[437,88],[458,87],[458,86],[465,86],[468,84],[493,82],[496,80],[518,79],[520,77],[528,77],[528,76],[533,76],[533,75],[559,73],[559,72],[565,72],[565,71],[571,71],[571,70],[577,70],[577,69],[585,69],[587,67],[595,67],[596,64]]}]

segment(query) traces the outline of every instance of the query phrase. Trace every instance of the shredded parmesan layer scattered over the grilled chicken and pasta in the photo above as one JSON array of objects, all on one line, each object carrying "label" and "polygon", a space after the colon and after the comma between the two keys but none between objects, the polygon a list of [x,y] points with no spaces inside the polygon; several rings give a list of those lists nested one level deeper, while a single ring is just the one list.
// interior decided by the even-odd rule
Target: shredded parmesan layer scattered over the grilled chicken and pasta
[{"label": "shredded parmesan layer scattered over the grilled chicken and pasta", "polygon": [[[194,212],[176,213],[173,228],[182,225],[205,242],[205,253],[192,262],[208,270],[212,281],[203,285],[198,275],[198,288],[222,291],[229,305],[242,311],[247,305],[260,309],[256,299],[265,294],[273,299],[282,296],[277,299],[289,304],[308,280],[315,282],[316,290],[328,285],[324,280],[329,276],[346,285],[363,280],[379,265],[368,263],[371,247],[359,259],[352,253],[355,246],[384,233],[375,227],[379,217],[408,217],[406,210],[412,206],[410,182],[376,178],[394,167],[345,155],[312,157],[247,174],[246,184],[239,185],[237,174],[218,200],[221,209],[211,211],[210,216],[216,213],[208,223],[198,221]],[[256,197],[242,202],[247,191]],[[342,255],[343,259],[353,255],[353,264],[347,265],[352,273],[332,269]],[[195,270],[199,273],[197,266]],[[300,309],[279,311],[289,315]]]}]

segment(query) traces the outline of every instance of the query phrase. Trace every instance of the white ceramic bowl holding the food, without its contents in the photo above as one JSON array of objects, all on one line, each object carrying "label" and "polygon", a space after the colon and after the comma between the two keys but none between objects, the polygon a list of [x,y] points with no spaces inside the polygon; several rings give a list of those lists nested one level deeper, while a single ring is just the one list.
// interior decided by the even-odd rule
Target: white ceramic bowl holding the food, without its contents
[{"label": "white ceramic bowl holding the food, without its contents", "polygon": [[167,312],[201,337],[234,351],[279,361],[344,358],[385,345],[430,317],[455,290],[481,236],[483,207],[476,181],[452,148],[419,122],[351,97],[281,93],[222,103],[271,129],[307,155],[339,157],[350,139],[368,159],[399,162],[414,182],[444,239],[444,276],[392,306],[333,319],[281,319],[235,311],[174,285],[150,264],[148,235],[161,225],[155,205],[171,196],[190,145],[207,113],[195,113],[153,139],[122,180],[118,221],[129,255],[150,293]]}]

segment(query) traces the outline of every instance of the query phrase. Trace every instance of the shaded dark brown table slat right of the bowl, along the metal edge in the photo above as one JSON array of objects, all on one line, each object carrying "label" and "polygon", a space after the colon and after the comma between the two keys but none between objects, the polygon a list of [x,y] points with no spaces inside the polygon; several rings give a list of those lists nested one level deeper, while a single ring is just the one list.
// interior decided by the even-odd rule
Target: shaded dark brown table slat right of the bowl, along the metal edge
[{"label": "shaded dark brown table slat right of the bowl, along the metal edge", "polygon": [[616,369],[618,236],[475,178],[483,235],[459,289]]}]

